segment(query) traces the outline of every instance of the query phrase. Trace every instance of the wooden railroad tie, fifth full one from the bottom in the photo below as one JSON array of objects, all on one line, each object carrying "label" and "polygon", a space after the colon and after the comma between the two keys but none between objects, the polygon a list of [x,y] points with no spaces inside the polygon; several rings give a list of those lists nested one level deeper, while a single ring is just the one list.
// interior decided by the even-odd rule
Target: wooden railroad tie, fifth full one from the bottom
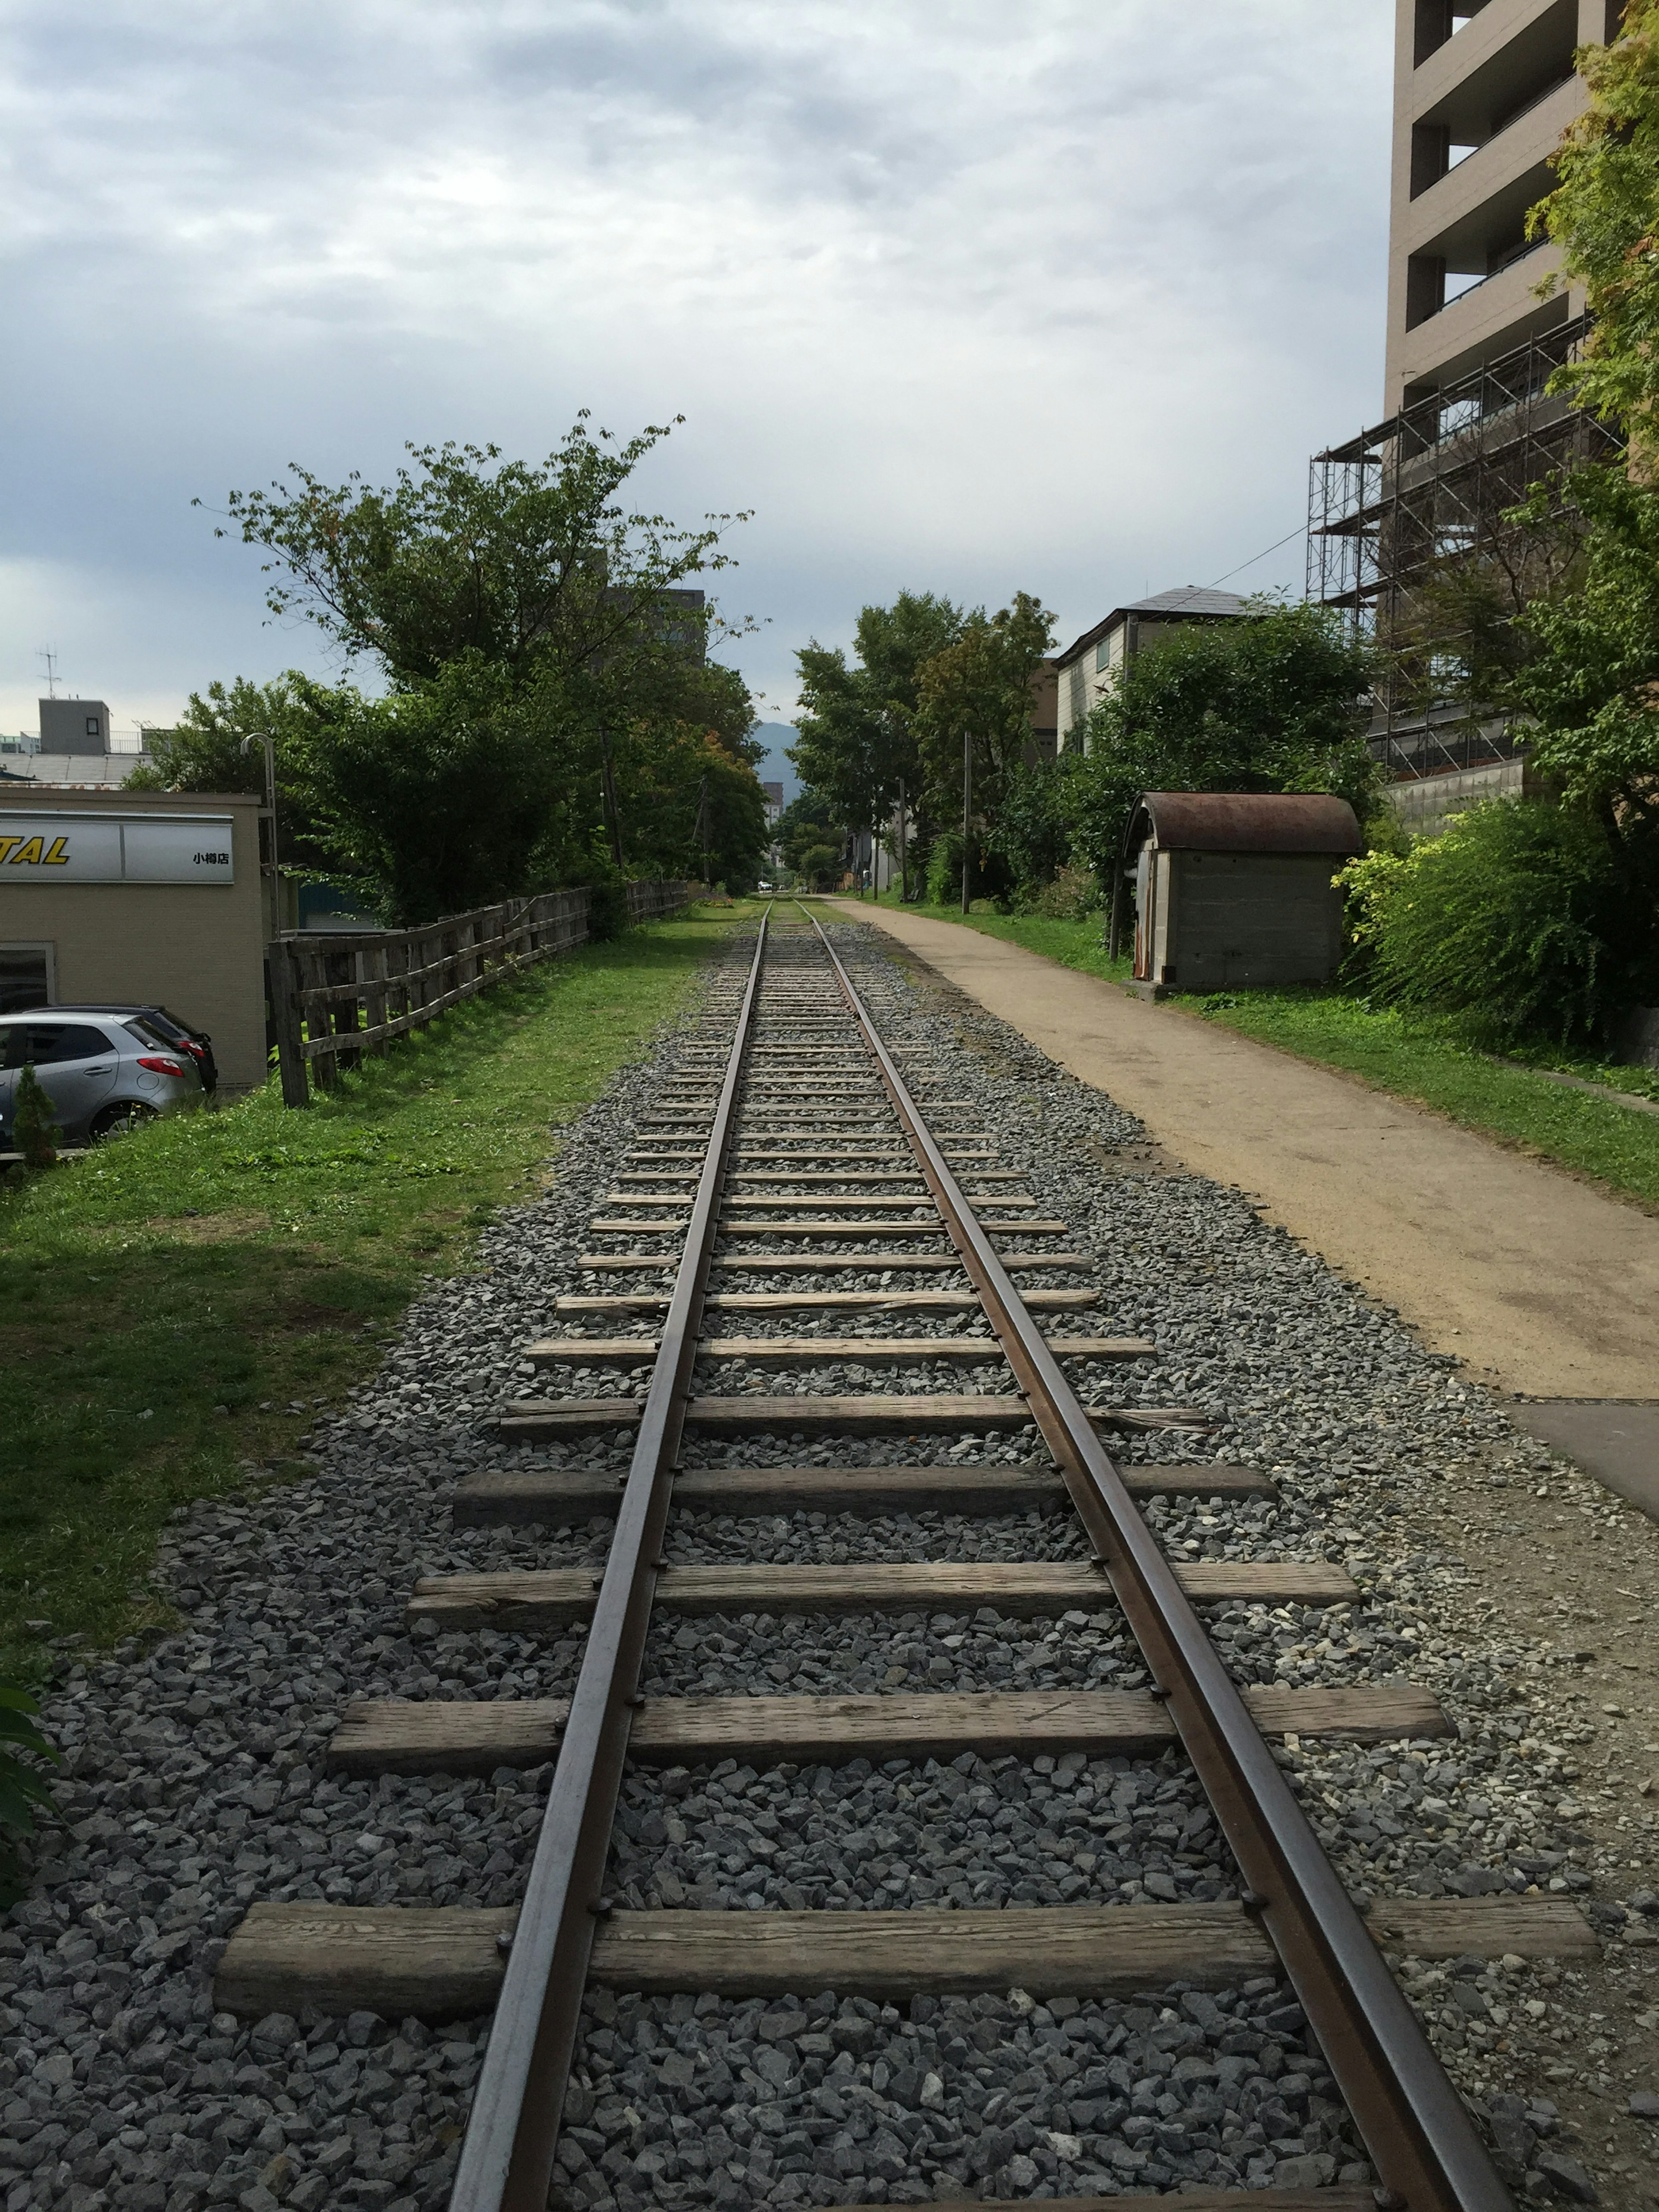
[{"label": "wooden railroad tie, fifth full one from the bottom", "polygon": [[[595,1429],[626,1429],[639,1420],[639,1398],[515,1398],[491,1422],[495,1436],[526,1440],[535,1436],[593,1436]],[[1091,1405],[1084,1407],[1097,1429],[1212,1429],[1217,1413],[1183,1405]],[[754,1391],[745,1398],[692,1398],[686,1405],[686,1427],[710,1436],[807,1436],[838,1429],[843,1436],[907,1436],[916,1431],[1024,1429],[1031,1407],[1024,1398],[1004,1394],[869,1398],[774,1398]]]}]

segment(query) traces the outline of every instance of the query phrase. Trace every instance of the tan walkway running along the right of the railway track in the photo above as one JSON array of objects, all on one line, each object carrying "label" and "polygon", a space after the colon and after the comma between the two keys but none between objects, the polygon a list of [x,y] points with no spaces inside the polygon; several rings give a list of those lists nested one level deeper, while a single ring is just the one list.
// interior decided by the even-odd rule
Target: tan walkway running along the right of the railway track
[{"label": "tan walkway running along the right of the railway track", "polygon": [[1139,1115],[1183,1166],[1531,1398],[1659,1396],[1659,1221],[1405,1099],[975,929],[836,900]]}]

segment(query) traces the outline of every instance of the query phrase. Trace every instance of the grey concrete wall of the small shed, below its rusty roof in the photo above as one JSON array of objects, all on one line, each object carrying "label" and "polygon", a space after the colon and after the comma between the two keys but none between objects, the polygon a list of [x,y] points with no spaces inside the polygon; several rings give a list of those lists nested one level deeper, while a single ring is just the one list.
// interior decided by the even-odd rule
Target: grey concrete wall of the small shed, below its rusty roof
[{"label": "grey concrete wall of the small shed, below its rusty roof", "polygon": [[1343,953],[1332,854],[1157,854],[1152,982],[1170,991],[1327,982]]}]

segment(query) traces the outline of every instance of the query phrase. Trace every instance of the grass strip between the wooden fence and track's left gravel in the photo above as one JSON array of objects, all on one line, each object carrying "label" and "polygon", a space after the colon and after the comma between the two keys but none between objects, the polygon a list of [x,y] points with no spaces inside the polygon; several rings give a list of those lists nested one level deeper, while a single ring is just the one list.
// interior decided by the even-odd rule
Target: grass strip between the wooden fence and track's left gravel
[{"label": "grass strip between the wooden fence and track's left gravel", "polygon": [[743,911],[553,960],[307,1113],[265,1084],[0,1190],[0,1677],[168,1619],[146,1579],[168,1515],[301,1471],[316,1409],[540,1183],[551,1128],[641,1057]]}]

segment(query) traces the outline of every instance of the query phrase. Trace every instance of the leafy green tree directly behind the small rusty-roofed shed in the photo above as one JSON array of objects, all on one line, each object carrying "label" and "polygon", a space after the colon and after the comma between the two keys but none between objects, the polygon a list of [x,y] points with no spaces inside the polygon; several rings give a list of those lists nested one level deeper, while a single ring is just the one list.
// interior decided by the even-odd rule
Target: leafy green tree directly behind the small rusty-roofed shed
[{"label": "leafy green tree directly behind the small rusty-roofed shed", "polygon": [[1137,653],[1084,726],[1075,849],[1104,883],[1141,792],[1336,792],[1365,821],[1380,774],[1358,732],[1371,648],[1323,606],[1252,602]]}]

